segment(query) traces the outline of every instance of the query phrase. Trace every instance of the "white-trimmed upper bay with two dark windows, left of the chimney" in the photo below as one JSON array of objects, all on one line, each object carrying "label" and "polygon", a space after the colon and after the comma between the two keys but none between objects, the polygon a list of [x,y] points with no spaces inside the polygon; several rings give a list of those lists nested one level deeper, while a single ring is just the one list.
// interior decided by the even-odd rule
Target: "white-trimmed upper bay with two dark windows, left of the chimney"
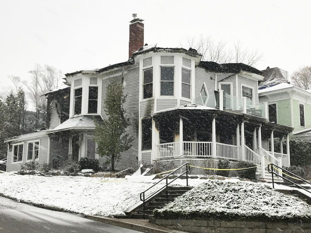
[{"label": "white-trimmed upper bay with two dark windows, left of the chimney", "polygon": [[69,117],[100,115],[102,78],[97,71],[66,74],[70,91]]}]

